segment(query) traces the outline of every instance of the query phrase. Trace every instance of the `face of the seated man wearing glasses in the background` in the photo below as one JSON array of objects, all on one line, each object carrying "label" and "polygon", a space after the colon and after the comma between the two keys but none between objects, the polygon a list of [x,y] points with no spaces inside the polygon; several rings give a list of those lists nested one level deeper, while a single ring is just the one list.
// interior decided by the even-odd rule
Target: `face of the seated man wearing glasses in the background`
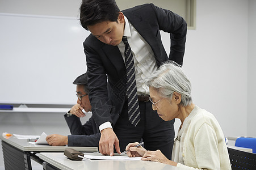
[{"label": "face of the seated man wearing glasses in the background", "polygon": [[84,90],[83,85],[77,85],[77,95],[78,96],[83,96],[82,99],[77,99],[77,103],[81,105],[81,107],[83,107],[83,109],[85,110],[85,112],[90,112],[91,111],[91,103],[89,100],[89,96],[86,94],[85,90]]}]

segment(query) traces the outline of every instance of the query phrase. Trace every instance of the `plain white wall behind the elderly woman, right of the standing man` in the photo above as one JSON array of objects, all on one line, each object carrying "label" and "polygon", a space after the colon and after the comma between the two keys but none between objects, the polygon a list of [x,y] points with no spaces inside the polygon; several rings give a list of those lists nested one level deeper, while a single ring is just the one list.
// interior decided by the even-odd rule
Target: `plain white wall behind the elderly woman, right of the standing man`
[{"label": "plain white wall behind the elderly woman, right of the standing man", "polygon": [[246,135],[248,3],[196,3],[196,30],[188,30],[184,57],[192,98],[216,116],[225,136]]}]

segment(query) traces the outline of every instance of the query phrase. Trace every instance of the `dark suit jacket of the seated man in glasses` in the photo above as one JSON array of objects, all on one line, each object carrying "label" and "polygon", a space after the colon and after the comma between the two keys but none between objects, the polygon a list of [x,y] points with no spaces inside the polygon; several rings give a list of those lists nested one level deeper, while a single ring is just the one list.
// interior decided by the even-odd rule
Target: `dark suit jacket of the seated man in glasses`
[{"label": "dark suit jacket of the seated man in glasses", "polygon": [[77,116],[66,117],[65,114],[64,117],[72,134],[68,135],[68,146],[99,146],[100,133],[93,117],[84,125],[81,124],[80,118]]}]

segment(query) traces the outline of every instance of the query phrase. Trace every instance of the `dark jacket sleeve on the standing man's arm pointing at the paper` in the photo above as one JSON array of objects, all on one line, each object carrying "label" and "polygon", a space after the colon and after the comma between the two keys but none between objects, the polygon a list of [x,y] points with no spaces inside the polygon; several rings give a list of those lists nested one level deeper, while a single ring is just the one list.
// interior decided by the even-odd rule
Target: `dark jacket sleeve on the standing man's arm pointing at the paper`
[{"label": "dark jacket sleeve on the standing man's arm pointing at the paper", "polygon": [[[83,42],[86,55],[88,85],[90,88],[90,103],[96,126],[104,122],[111,122],[110,106],[108,105],[107,71],[108,61],[106,54],[101,49],[103,42],[89,35]],[[115,47],[117,48],[117,47]],[[108,66],[106,66],[108,65]]]}]

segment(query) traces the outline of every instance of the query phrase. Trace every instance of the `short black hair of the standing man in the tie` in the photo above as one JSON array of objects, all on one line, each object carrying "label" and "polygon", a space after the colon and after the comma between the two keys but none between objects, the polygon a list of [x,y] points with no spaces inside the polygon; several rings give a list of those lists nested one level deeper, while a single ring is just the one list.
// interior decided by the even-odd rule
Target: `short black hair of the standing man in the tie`
[{"label": "short black hair of the standing man in the tie", "polygon": [[104,21],[117,22],[119,7],[115,0],[82,0],[80,7],[80,22],[88,30],[88,25]]}]

